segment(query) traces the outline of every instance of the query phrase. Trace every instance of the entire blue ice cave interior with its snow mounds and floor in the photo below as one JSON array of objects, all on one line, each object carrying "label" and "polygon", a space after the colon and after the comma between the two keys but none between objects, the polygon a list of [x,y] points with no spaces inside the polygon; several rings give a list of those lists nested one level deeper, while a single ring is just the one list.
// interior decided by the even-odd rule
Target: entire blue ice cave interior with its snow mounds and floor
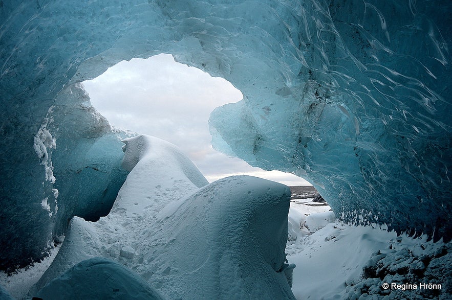
[{"label": "entire blue ice cave interior with its snow mounds and floor", "polygon": [[[0,298],[449,299],[451,9],[0,1]],[[299,244],[288,187],[209,183],[174,145],[112,129],[80,83],[160,53],[242,92],[210,115],[216,150],[308,179],[336,221]],[[4,284],[55,248],[27,291]]]}]

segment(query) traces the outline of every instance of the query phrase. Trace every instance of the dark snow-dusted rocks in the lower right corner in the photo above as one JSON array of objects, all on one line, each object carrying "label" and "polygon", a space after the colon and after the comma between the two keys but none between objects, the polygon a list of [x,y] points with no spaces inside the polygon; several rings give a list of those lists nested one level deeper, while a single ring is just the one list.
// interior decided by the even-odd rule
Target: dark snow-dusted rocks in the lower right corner
[{"label": "dark snow-dusted rocks in the lower right corner", "polygon": [[452,299],[452,245],[417,244],[373,253],[348,299]]}]

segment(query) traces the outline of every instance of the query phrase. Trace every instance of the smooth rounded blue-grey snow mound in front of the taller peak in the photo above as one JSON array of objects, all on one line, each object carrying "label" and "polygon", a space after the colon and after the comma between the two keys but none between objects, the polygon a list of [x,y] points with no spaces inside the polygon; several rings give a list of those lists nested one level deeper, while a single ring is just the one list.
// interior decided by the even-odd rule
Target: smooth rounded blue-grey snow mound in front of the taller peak
[{"label": "smooth rounded blue-grey snow mound in front of the taller peak", "polygon": [[156,251],[167,278],[155,272],[153,281],[168,290],[177,286],[189,299],[200,297],[200,287],[202,298],[293,298],[294,266],[284,252],[289,197],[282,184],[250,176],[202,188],[160,216],[171,246]]}]

